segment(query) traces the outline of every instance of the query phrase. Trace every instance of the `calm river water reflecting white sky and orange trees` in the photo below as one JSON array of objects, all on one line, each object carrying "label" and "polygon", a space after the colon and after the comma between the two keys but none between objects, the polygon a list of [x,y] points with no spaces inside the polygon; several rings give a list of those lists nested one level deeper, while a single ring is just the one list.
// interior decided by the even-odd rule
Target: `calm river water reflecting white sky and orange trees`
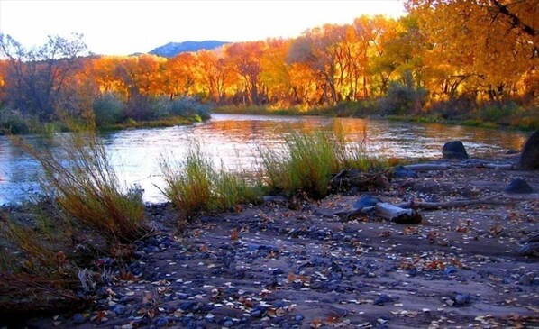
[{"label": "calm river water reflecting white sky and orange trees", "polygon": [[[461,140],[470,157],[479,158],[520,150],[526,138],[525,133],[437,123],[241,114],[213,114],[208,122],[192,126],[123,130],[101,137],[123,182],[142,187],[144,201],[162,202],[160,160],[182,160],[190,143],[198,142],[226,169],[254,170],[260,147],[280,147],[291,131],[335,130],[348,142],[361,142],[372,155],[407,159],[440,158],[443,143],[451,140]],[[26,138],[41,143],[38,136]],[[0,205],[39,193],[39,172],[39,164],[0,136]]]}]

